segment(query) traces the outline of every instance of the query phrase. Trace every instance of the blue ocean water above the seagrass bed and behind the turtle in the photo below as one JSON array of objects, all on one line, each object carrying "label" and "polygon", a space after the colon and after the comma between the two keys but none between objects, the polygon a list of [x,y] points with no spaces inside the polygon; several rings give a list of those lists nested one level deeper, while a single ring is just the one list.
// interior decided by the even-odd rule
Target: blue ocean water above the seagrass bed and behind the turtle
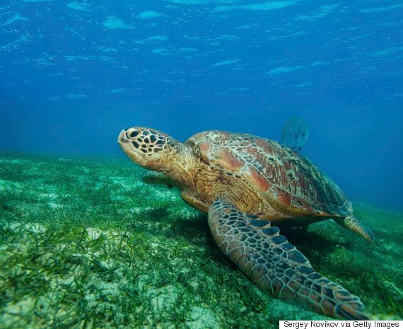
[{"label": "blue ocean water above the seagrass bed and behind the turtle", "polygon": [[151,126],[303,149],[353,200],[403,208],[400,1],[0,2],[0,150],[124,156]]}]

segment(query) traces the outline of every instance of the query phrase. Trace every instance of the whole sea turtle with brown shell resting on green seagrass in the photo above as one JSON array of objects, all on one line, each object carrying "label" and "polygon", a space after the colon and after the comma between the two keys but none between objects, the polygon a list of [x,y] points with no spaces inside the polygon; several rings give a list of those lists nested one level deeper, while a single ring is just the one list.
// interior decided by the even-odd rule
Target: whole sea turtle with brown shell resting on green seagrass
[{"label": "whole sea turtle with brown shell resting on green seagrass", "polygon": [[218,247],[264,291],[317,313],[367,319],[360,299],[315,272],[279,227],[333,219],[373,240],[344,193],[298,152],[244,133],[204,131],[185,143],[151,128],[124,129],[127,156],[175,184],[208,213]]}]

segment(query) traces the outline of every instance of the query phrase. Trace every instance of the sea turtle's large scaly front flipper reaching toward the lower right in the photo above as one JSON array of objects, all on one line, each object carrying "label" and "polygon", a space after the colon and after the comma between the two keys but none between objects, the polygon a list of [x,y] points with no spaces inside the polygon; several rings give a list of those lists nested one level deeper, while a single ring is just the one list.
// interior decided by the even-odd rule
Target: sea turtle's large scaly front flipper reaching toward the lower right
[{"label": "sea turtle's large scaly front flipper reaching toward the lower right", "polygon": [[209,226],[218,247],[257,285],[317,313],[366,320],[360,299],[316,273],[309,261],[267,220],[240,212],[225,199],[209,208]]}]

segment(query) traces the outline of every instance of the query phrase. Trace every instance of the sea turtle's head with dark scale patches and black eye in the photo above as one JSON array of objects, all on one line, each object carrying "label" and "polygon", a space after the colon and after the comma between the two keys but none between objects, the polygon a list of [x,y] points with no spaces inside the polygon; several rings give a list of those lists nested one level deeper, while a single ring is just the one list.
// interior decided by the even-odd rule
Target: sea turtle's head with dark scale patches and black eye
[{"label": "sea turtle's head with dark scale patches and black eye", "polygon": [[117,143],[132,161],[159,172],[168,170],[182,144],[166,133],[138,126],[122,130]]}]

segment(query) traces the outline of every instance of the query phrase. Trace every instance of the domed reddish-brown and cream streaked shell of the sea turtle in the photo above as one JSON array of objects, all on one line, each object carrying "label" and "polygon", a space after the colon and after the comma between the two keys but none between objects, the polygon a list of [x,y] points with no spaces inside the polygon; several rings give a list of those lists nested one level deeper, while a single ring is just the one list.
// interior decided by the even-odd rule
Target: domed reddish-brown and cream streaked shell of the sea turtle
[{"label": "domed reddish-brown and cream streaked shell of the sea turtle", "polygon": [[197,147],[202,161],[250,181],[285,215],[344,217],[352,213],[351,203],[332,179],[303,155],[273,140],[206,131],[187,143]]}]

